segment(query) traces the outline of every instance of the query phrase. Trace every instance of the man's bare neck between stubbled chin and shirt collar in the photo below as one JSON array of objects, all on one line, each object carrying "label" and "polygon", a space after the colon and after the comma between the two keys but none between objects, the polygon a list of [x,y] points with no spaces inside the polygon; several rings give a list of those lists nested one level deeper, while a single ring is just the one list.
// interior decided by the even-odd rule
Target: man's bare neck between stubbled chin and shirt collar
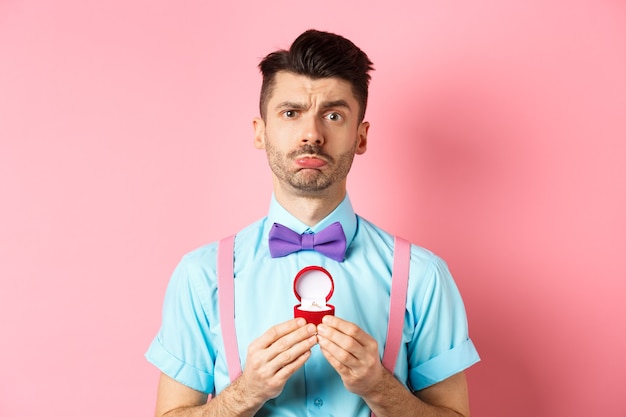
[{"label": "man's bare neck between stubbled chin and shirt collar", "polygon": [[346,196],[345,184],[336,190],[324,190],[315,193],[285,192],[274,187],[276,201],[289,213],[307,226],[315,226],[328,216]]}]

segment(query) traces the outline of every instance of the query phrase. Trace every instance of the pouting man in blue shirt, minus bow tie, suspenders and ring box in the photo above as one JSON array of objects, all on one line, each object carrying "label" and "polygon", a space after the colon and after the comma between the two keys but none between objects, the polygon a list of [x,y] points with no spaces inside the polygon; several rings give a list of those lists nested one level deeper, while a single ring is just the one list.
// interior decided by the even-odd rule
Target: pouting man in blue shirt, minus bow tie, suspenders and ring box
[{"label": "pouting man in blue shirt, minus bow tie, suspenders and ring box", "polygon": [[[231,383],[213,243],[187,254],[168,286],[146,354],[162,371],[156,415],[468,417],[463,371],[479,359],[463,303],[445,263],[417,246],[399,359],[393,373],[381,363],[394,239],[357,216],[346,192],[367,148],[371,61],[349,40],[311,30],[259,66],[254,144],[266,151],[274,193],[267,217],[238,232],[229,254],[243,372]],[[275,227],[307,235],[337,223],[346,240],[338,257],[270,247]],[[309,265],[334,282],[336,315],[317,326],[293,318],[294,276]]]}]

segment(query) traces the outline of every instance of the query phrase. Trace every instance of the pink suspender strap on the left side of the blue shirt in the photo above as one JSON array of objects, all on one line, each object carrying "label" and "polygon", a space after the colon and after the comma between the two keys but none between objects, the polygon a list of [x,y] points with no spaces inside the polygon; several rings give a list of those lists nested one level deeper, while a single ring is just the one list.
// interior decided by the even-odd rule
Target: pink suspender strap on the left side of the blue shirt
[{"label": "pink suspender strap on the left side of the blue shirt", "polygon": [[217,299],[228,376],[234,381],[241,375],[237,331],[235,329],[235,280],[233,272],[235,236],[220,240],[217,248]]}]

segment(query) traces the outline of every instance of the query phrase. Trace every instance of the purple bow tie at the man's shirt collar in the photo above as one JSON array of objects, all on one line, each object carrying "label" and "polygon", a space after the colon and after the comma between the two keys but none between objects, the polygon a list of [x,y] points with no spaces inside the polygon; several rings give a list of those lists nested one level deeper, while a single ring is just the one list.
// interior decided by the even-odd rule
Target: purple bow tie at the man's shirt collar
[{"label": "purple bow tie at the man's shirt collar", "polygon": [[343,262],[346,254],[346,235],[339,222],[317,233],[303,234],[274,223],[269,233],[269,246],[272,258],[280,258],[301,250],[314,250],[337,262]]}]

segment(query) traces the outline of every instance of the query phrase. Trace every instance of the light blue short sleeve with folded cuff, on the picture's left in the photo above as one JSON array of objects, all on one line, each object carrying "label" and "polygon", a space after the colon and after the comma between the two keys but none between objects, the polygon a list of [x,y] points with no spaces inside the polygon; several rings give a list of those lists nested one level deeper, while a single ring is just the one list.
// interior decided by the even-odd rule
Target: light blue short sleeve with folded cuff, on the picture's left
[{"label": "light blue short sleeve with folded cuff, on the picture's left", "polygon": [[[184,257],[165,294],[161,328],[146,359],[169,377],[204,393],[214,386],[215,349],[210,342],[210,286],[206,268]],[[203,298],[205,298],[203,300]]]}]

